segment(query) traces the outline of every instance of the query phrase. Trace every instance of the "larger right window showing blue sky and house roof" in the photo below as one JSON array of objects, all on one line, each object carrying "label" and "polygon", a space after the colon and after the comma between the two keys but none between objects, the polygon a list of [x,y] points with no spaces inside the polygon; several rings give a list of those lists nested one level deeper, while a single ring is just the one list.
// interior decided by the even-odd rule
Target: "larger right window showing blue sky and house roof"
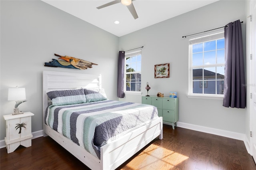
[{"label": "larger right window showing blue sky and house roof", "polygon": [[224,31],[189,40],[189,95],[223,96]]}]

